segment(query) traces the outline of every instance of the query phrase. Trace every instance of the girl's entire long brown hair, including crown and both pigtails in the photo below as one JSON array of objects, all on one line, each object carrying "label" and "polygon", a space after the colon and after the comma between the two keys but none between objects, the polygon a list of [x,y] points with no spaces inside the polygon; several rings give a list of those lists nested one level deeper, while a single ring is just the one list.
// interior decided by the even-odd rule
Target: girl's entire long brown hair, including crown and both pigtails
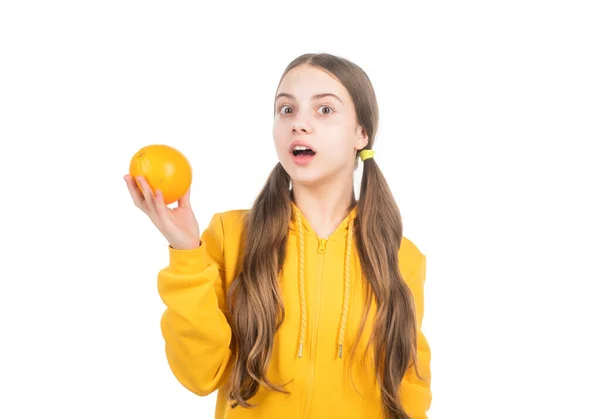
[{"label": "girl's entire long brown hair, including crown and both pigtails", "polygon": [[[365,149],[371,149],[377,133],[379,110],[366,73],[342,57],[304,54],[287,66],[280,83],[291,69],[301,64],[327,71],[346,87],[355,105],[357,122],[368,135]],[[253,407],[248,399],[256,394],[259,385],[287,393],[267,378],[266,371],[274,335],[285,317],[278,279],[292,218],[289,186],[290,177],[278,163],[247,214],[242,270],[228,292],[235,350],[228,398],[243,407]],[[383,409],[389,419],[409,419],[398,390],[407,369],[411,365],[415,369],[417,366],[415,308],[411,291],[398,266],[402,240],[400,210],[375,159],[364,162],[353,234],[369,285],[355,342],[364,332],[374,297],[376,313],[369,345],[377,348],[373,351],[374,368]],[[352,357],[355,353],[356,345]]]}]

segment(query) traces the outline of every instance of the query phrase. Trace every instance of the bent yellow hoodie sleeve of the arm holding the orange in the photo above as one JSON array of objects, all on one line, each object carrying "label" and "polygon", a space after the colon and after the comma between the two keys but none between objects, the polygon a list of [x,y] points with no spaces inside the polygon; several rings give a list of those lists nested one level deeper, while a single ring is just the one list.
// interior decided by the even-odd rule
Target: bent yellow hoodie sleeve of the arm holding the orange
[{"label": "bent yellow hoodie sleeve of the arm holding the orange", "polygon": [[200,239],[192,250],[169,246],[169,266],[158,274],[158,292],[166,305],[160,327],[169,367],[185,388],[206,396],[224,383],[232,357],[219,214]]}]

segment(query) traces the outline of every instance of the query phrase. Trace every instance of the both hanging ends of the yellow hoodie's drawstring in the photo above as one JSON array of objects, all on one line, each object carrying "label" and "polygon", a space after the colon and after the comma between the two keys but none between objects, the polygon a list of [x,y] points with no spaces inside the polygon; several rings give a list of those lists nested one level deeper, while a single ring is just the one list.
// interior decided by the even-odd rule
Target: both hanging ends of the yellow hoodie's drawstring
[{"label": "both hanging ends of the yellow hoodie's drawstring", "polygon": [[[298,236],[300,239],[300,338],[298,348],[298,358],[302,358],[304,342],[306,339],[306,286],[304,282],[304,230],[302,226],[302,215],[299,210],[296,213],[296,226],[298,228]],[[342,349],[344,345],[344,334],[346,332],[346,323],[348,320],[348,307],[350,305],[350,261],[352,256],[352,233],[354,231],[354,219],[350,219],[348,226],[348,235],[346,238],[346,255],[344,266],[344,303],[341,314],[341,324],[338,336],[338,358],[342,357]]]}]

